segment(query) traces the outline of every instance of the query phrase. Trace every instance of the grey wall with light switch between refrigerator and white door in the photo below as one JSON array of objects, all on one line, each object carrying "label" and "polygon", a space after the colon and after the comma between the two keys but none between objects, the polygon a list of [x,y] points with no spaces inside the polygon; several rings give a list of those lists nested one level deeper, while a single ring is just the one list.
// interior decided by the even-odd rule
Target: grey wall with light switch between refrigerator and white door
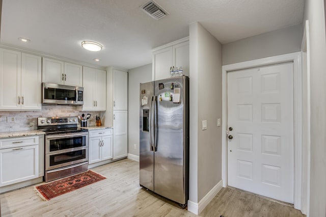
[{"label": "grey wall with light switch between refrigerator and white door", "polygon": [[[199,202],[222,179],[222,45],[203,26],[189,26],[189,200]],[[202,130],[207,120],[207,130]]]}]

